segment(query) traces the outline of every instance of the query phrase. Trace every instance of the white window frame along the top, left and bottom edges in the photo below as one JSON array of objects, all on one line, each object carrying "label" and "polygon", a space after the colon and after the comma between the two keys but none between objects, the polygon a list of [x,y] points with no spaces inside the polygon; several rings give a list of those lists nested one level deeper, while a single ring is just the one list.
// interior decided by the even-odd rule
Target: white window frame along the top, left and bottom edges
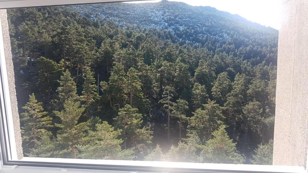
[{"label": "white window frame along the top, left and bottom edges", "polygon": [[[0,9],[32,7],[32,6],[56,6],[71,4],[124,2],[132,0],[0,0]],[[0,18],[1,21],[1,18]],[[17,159],[15,145],[14,125],[10,104],[10,92],[6,71],[4,42],[2,26],[0,22],[0,132],[1,132],[1,159],[3,169],[11,169],[18,165],[17,169],[7,172],[241,172],[241,173],[307,173],[304,167],[272,166],[272,165],[244,165],[244,164],[215,164],[215,163],[178,163],[178,162],[150,162],[127,160],[92,160],[92,159],[60,159],[60,158],[32,158]],[[16,166],[14,166],[15,168]],[[91,170],[91,171],[90,171]]]}]

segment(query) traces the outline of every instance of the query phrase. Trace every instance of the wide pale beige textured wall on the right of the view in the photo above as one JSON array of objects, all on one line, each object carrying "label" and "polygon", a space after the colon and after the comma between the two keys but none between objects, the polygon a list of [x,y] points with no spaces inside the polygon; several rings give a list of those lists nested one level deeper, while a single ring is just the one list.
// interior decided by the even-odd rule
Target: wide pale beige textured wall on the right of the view
[{"label": "wide pale beige textured wall on the right of the view", "polygon": [[308,144],[308,0],[282,0],[274,165],[304,166]]}]

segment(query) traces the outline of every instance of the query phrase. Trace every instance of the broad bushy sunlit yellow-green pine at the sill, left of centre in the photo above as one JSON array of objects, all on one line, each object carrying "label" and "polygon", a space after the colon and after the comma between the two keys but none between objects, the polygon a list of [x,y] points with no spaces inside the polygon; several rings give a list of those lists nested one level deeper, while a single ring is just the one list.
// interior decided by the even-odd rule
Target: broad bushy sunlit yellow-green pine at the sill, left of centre
[{"label": "broad bushy sunlit yellow-green pine at the sill, left of centre", "polygon": [[90,130],[87,137],[83,139],[85,145],[79,147],[82,159],[108,159],[108,160],[132,160],[134,151],[131,149],[122,150],[120,144],[123,142],[118,137],[121,130],[114,130],[114,127],[106,121],[97,123],[94,131]]}]

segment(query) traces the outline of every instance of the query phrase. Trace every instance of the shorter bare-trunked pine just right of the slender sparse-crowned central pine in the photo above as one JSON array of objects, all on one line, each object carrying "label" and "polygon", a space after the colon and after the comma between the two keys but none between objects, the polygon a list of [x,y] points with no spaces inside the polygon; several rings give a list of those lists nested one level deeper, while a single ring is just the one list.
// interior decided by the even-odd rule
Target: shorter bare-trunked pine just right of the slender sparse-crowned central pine
[{"label": "shorter bare-trunked pine just right of the slender sparse-crowned central pine", "polygon": [[186,120],[186,111],[188,109],[188,102],[182,99],[176,100],[174,105],[173,116],[179,119],[179,138],[182,138],[182,121]]}]

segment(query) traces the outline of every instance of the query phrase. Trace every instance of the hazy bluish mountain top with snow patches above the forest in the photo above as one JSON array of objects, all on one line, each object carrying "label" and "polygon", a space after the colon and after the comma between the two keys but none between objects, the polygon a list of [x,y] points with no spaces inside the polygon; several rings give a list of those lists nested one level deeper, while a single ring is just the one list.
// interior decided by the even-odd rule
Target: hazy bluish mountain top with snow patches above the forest
[{"label": "hazy bluish mountain top with snow patches above the forest", "polygon": [[183,2],[162,1],[65,7],[91,19],[111,20],[124,28],[139,26],[170,30],[179,41],[185,42],[202,43],[202,38],[212,38],[215,39],[215,43],[222,45],[236,37],[238,40],[233,42],[236,49],[249,45],[276,48],[278,42],[278,30],[209,6],[190,6]]}]

